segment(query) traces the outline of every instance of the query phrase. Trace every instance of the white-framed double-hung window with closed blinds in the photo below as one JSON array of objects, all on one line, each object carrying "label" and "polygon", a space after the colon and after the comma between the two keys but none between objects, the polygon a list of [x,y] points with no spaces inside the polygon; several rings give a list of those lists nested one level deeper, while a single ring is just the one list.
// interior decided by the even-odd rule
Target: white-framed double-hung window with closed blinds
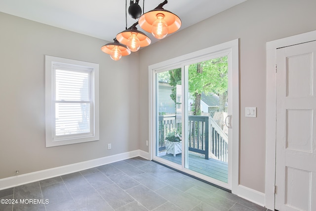
[{"label": "white-framed double-hung window with closed blinds", "polygon": [[99,65],[45,56],[46,147],[99,140]]}]

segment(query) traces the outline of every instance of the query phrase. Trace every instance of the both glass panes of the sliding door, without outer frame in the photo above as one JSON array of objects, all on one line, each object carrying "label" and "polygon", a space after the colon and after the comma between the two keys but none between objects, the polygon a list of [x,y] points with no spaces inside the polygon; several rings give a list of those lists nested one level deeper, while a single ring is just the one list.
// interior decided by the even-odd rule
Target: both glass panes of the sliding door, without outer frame
[{"label": "both glass panes of the sliding door, without outer frame", "polygon": [[227,56],[158,71],[156,156],[227,183],[227,111]]}]

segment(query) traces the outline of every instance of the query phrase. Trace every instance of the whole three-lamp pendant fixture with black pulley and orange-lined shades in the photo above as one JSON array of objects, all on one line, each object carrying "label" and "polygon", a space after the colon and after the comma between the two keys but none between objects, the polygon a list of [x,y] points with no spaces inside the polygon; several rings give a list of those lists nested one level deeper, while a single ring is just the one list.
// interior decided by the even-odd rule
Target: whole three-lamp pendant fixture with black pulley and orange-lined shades
[{"label": "whole three-lamp pendant fixture with black pulley and orange-lined shades", "polygon": [[[144,10],[143,0],[143,10]],[[128,8],[129,15],[136,19],[141,13],[142,9],[138,5],[139,0],[130,0],[130,6]],[[168,3],[164,0],[155,9],[146,12],[140,16],[139,20],[127,29],[127,0],[125,4],[125,18],[126,18],[126,30],[119,33],[114,42],[107,43],[101,47],[101,50],[107,54],[110,54],[111,58],[118,61],[122,56],[127,56],[132,52],[138,51],[140,47],[146,47],[150,45],[151,39],[143,32],[138,31],[136,26],[140,27],[146,32],[152,33],[156,38],[162,39],[166,35],[176,32],[181,27],[181,20],[178,16],[172,12],[162,8],[163,5]]]}]

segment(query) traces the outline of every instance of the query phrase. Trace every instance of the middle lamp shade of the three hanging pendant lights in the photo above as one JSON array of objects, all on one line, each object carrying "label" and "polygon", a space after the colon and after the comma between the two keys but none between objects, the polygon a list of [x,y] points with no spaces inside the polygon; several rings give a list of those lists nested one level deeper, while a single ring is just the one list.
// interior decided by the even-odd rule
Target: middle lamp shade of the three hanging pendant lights
[{"label": "middle lamp shade of the three hanging pendant lights", "polygon": [[117,40],[126,45],[132,52],[138,51],[140,47],[148,46],[151,43],[150,38],[143,32],[138,31],[135,25],[117,35]]}]

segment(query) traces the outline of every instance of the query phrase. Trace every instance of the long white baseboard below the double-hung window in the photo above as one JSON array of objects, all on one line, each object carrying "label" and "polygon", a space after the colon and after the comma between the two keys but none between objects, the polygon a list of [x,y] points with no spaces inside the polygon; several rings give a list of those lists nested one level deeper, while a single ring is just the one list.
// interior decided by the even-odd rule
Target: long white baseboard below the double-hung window
[{"label": "long white baseboard below the double-hung window", "polygon": [[88,160],[80,163],[70,164],[66,166],[60,166],[52,169],[45,169],[38,172],[32,172],[24,175],[11,176],[7,178],[0,179],[0,190],[15,187],[18,185],[27,184],[30,182],[40,181],[43,179],[52,178],[55,176],[62,176],[71,174],[74,172],[79,172],[82,170],[114,163],[117,161],[133,158],[133,157],[143,157],[147,159],[148,152],[142,150],[135,150],[130,152],[125,152],[117,155],[111,155],[103,158],[97,158],[93,160]]}]

